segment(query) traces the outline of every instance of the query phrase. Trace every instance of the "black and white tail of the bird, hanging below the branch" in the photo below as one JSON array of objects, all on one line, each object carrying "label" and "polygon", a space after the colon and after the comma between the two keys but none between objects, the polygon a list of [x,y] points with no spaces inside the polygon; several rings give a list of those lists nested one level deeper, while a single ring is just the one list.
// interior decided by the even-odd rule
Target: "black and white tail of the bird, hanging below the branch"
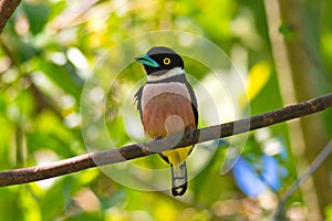
[{"label": "black and white tail of the bird, hanging below the branch", "polygon": [[172,170],[172,193],[183,196],[187,190],[187,167],[186,161],[178,165],[170,165]]}]

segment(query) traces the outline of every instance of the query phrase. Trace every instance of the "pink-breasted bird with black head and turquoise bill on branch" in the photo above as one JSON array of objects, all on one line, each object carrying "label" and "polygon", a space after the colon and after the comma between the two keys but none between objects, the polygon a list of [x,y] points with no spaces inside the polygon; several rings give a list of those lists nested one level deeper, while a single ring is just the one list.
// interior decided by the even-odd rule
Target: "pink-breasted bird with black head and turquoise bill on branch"
[{"label": "pink-breasted bird with black head and turquoise bill on branch", "polygon": [[[146,84],[134,95],[145,134],[152,139],[197,129],[198,108],[193,86],[186,77],[184,60],[167,46],[154,46],[136,56],[146,72]],[[159,152],[170,165],[172,193],[187,190],[186,159],[193,146]]]}]

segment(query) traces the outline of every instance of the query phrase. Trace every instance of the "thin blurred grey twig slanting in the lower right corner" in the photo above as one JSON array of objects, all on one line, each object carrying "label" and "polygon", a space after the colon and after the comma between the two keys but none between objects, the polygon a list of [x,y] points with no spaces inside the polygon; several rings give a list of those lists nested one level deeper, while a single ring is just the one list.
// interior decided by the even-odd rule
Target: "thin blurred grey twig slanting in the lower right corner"
[{"label": "thin blurred grey twig slanting in the lower right corner", "polygon": [[273,214],[273,220],[279,220],[279,218],[283,214],[284,203],[288,198],[290,198],[294,191],[310,178],[310,176],[321,166],[321,164],[329,157],[332,152],[332,140],[322,149],[322,151],[317,156],[317,158],[312,161],[310,167],[292,183],[292,186],[284,192],[284,194],[280,198],[278,208]]}]

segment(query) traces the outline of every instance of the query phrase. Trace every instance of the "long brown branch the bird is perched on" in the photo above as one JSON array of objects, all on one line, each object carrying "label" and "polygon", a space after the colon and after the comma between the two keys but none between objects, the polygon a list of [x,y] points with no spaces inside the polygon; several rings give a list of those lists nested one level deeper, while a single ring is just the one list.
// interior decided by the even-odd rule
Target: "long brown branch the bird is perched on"
[{"label": "long brown branch the bird is perched on", "polygon": [[[159,140],[133,144],[122,148],[98,152],[90,152],[86,155],[56,161],[46,166],[35,166],[30,168],[3,171],[0,172],[0,187],[59,177],[96,166],[111,165],[138,157],[144,157],[151,154],[169,149],[169,147],[186,147],[198,143],[247,133],[249,130],[268,127],[281,122],[287,122],[293,118],[321,112],[331,106],[332,93],[261,115],[197,129],[190,137],[183,137],[183,135],[172,135]],[[176,140],[179,139],[180,141],[177,143]]]}]

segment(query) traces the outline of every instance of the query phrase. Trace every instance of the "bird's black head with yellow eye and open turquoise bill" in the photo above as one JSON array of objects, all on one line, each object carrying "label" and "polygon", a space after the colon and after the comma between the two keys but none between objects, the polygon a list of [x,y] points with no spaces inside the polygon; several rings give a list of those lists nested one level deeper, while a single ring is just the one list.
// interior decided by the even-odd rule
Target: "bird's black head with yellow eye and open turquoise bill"
[{"label": "bird's black head with yellow eye and open turquoise bill", "polygon": [[173,69],[184,70],[183,59],[166,46],[154,46],[135,60],[143,64],[147,75],[160,76]]}]

